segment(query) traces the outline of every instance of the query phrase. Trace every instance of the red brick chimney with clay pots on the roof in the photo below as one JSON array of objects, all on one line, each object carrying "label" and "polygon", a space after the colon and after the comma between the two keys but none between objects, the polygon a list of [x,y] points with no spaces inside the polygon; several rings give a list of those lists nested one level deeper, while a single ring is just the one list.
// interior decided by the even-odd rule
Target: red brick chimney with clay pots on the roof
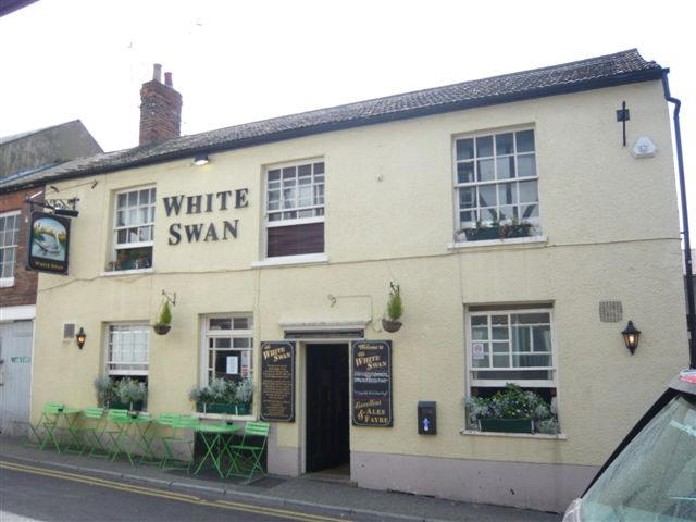
[{"label": "red brick chimney with clay pots on the roof", "polygon": [[177,138],[182,126],[182,95],[174,90],[172,73],[164,73],[154,64],[152,79],[140,89],[140,145]]}]

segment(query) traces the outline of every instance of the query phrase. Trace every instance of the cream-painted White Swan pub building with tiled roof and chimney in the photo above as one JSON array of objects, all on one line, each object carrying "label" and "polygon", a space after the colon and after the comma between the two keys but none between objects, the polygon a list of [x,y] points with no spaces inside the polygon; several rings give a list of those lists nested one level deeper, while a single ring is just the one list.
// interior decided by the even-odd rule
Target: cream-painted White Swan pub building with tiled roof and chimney
[{"label": "cream-painted White Swan pub building with tiled roof and chimney", "polygon": [[[160,71],[138,147],[40,174],[78,215],[34,420],[130,377],[152,415],[269,421],[272,474],[561,511],[686,364],[666,70],[636,50],[191,136]],[[197,411],[213,378],[248,409]],[[509,383],[526,433],[468,401]]]}]

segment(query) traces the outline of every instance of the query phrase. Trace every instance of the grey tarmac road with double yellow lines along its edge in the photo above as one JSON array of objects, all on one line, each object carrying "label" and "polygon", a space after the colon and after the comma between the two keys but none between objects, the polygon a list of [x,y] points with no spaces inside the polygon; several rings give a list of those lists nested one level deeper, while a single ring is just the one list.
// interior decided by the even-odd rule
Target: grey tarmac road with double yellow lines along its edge
[{"label": "grey tarmac road with double yellow lines along its edge", "polygon": [[378,520],[316,509],[286,509],[224,497],[104,480],[50,467],[0,460],[0,521],[300,521]]}]

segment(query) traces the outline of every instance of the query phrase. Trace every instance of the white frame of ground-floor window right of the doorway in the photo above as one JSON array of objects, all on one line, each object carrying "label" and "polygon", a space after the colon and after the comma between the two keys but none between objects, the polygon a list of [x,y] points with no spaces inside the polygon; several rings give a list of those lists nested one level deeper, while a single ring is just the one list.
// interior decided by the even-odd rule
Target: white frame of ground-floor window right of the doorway
[{"label": "white frame of ground-floor window right of the doorway", "polygon": [[[551,338],[551,351],[550,351],[550,356],[551,356],[551,365],[550,366],[522,366],[522,368],[518,368],[518,366],[509,366],[509,368],[474,368],[473,366],[473,335],[472,335],[472,330],[471,330],[471,318],[473,316],[481,316],[481,315],[487,315],[488,319],[488,343],[490,344],[490,349],[489,349],[489,361],[490,364],[493,364],[493,344],[492,344],[492,335],[490,335],[490,328],[492,328],[492,321],[490,321],[490,316],[492,315],[502,315],[502,314],[507,314],[508,316],[511,314],[524,314],[524,313],[548,313],[549,314],[549,330],[550,330],[550,338]],[[490,310],[476,310],[476,311],[467,311],[465,313],[465,321],[467,321],[467,383],[468,383],[468,387],[469,387],[469,396],[471,396],[471,388],[477,388],[477,387],[505,387],[505,385],[507,383],[514,383],[517,385],[519,385],[522,388],[558,388],[558,384],[557,384],[557,361],[558,361],[558,348],[557,348],[557,343],[556,343],[556,328],[555,328],[555,315],[554,315],[554,309],[552,308],[505,308],[505,309],[490,309]],[[511,328],[511,323],[510,320],[508,319],[508,328]],[[533,340],[532,340],[533,341]],[[512,343],[512,338],[509,337],[508,338],[508,343],[511,346]],[[512,351],[510,350],[508,353],[512,353]],[[524,352],[525,355],[527,355],[526,352]],[[530,352],[529,355],[545,355],[548,352]],[[473,372],[476,371],[481,371],[481,370],[493,370],[493,371],[498,371],[498,372],[505,372],[506,370],[508,371],[550,371],[551,373],[551,378],[550,380],[519,380],[519,378],[474,378],[473,377]]]}]

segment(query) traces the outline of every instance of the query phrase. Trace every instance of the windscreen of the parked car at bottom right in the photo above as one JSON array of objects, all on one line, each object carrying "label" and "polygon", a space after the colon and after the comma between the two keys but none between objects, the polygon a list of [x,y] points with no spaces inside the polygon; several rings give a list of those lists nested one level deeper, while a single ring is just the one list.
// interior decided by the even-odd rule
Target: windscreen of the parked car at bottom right
[{"label": "windscreen of the parked car at bottom right", "polygon": [[585,521],[696,520],[696,400],[678,395],[582,500]]}]

